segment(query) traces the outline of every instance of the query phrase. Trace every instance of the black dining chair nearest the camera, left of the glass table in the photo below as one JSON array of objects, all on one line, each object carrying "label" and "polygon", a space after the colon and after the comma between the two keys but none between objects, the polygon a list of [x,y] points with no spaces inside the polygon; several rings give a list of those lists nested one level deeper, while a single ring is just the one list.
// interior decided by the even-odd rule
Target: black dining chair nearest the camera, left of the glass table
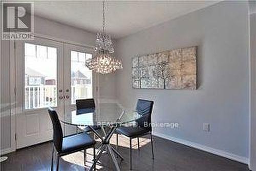
[{"label": "black dining chair nearest the camera, left of the glass table", "polygon": [[[49,108],[48,112],[53,125],[53,149],[52,149],[51,170],[53,170],[53,161],[55,156],[54,154],[57,155],[56,170],[58,170],[59,158],[61,156],[69,155],[71,153],[75,153],[80,150],[86,151],[87,148],[93,148],[93,158],[95,161],[96,141],[86,133],[63,137],[63,132],[58,119],[57,112],[52,108]],[[84,160],[86,160],[86,158],[84,158]],[[95,165],[94,165],[94,170],[96,170]]]}]

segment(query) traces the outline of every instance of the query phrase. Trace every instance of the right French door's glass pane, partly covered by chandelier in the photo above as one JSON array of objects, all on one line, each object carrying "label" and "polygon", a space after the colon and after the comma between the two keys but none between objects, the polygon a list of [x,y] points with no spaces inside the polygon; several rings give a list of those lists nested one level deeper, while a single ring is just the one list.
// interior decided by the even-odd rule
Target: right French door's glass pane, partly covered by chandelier
[{"label": "right French door's glass pane, partly covered by chandelier", "polygon": [[85,63],[92,54],[71,51],[71,104],[76,99],[88,99],[93,97],[92,93],[92,71]]}]

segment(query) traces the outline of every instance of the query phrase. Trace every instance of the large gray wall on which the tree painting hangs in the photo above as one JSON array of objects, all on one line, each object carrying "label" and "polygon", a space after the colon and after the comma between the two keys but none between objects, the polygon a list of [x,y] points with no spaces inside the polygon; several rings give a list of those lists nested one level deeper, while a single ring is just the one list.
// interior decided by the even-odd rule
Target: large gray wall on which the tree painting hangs
[{"label": "large gray wall on which the tree painting hangs", "polygon": [[[133,89],[131,59],[138,54],[198,46],[197,90]],[[221,2],[117,41],[123,70],[117,98],[155,101],[154,122],[178,122],[178,129],[154,128],[167,136],[248,157],[248,4]],[[210,123],[210,132],[202,124]]]}]

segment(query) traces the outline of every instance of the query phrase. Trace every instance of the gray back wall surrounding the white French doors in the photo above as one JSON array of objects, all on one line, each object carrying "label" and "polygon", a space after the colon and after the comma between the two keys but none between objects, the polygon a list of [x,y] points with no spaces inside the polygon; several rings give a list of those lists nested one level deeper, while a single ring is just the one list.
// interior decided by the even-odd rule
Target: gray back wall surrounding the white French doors
[{"label": "gray back wall surrounding the white French doors", "polygon": [[[57,39],[77,42],[84,45],[94,46],[96,34],[81,29],[56,23],[44,18],[35,17],[35,33],[52,36]],[[1,42],[1,144],[0,149],[11,147],[11,117],[10,117],[10,50],[9,42]],[[99,77],[99,97],[115,99],[114,75]]]}]

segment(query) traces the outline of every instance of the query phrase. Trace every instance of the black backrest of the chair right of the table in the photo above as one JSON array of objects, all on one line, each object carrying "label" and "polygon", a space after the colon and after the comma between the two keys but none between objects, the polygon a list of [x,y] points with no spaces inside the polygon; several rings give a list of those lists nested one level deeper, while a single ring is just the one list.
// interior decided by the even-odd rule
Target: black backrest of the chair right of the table
[{"label": "black backrest of the chair right of the table", "polygon": [[144,99],[139,99],[137,101],[136,111],[139,113],[139,115],[143,116],[136,121],[138,126],[151,128],[151,113],[153,104],[153,101]]}]

